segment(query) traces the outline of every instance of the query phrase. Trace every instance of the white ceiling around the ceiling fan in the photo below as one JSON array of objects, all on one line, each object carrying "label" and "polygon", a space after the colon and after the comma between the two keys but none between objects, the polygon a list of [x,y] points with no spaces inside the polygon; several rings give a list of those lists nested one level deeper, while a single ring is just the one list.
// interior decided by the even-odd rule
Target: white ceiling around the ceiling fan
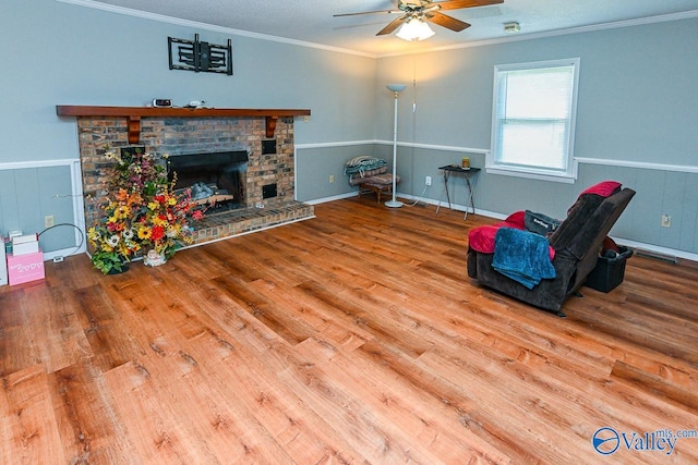
[{"label": "white ceiling around the ceiling fan", "polygon": [[[392,0],[59,0],[166,21],[203,23],[230,33],[270,36],[339,48],[369,56],[385,56],[454,47],[464,42],[513,38],[503,24],[516,21],[518,37],[565,29],[636,24],[698,16],[698,0],[504,0],[504,3],[447,14],[472,26],[454,33],[434,25],[436,35],[421,42],[375,34],[397,14],[333,17],[394,9]],[[195,25],[195,24],[194,24]]]}]

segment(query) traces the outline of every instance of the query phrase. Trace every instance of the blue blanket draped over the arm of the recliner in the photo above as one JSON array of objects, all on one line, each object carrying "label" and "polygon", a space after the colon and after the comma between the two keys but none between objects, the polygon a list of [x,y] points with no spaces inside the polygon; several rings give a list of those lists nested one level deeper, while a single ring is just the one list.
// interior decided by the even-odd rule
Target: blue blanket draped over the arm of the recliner
[{"label": "blue blanket draped over the arm of the recliner", "polygon": [[528,289],[542,279],[555,278],[549,242],[542,235],[514,228],[500,228],[494,236],[492,267]]}]

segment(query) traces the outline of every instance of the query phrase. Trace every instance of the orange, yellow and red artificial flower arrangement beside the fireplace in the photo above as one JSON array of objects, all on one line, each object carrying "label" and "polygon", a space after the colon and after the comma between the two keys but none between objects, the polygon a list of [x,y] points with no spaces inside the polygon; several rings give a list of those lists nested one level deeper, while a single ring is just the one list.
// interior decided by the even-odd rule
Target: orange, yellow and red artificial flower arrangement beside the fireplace
[{"label": "orange, yellow and red artificial flower arrangement beside the fireplace", "polygon": [[121,272],[133,257],[146,265],[160,265],[182,243],[191,244],[192,220],[204,211],[191,201],[191,191],[176,193],[177,176],[170,182],[163,158],[142,147],[109,150],[115,163],[108,169],[106,201],[101,215],[87,231],[94,247],[92,262],[103,273]]}]

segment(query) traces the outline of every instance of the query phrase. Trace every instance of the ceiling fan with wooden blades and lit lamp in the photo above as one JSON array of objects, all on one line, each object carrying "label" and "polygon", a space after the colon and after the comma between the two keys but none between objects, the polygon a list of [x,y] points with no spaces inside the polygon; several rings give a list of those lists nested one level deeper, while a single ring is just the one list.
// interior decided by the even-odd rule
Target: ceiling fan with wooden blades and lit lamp
[{"label": "ceiling fan with wooden blades and lit lamp", "polygon": [[[432,0],[394,0],[397,10],[377,10],[377,11],[363,11],[359,13],[340,13],[335,14],[338,16],[353,16],[359,14],[375,14],[375,13],[405,13],[400,17],[393,20],[387,26],[378,30],[376,36],[384,36],[390,34],[404,24],[425,24],[431,22],[447,29],[460,32],[470,24],[457,20],[453,16],[442,13],[442,11],[460,10],[464,8],[485,7],[490,4],[504,3],[504,0],[445,0],[445,1],[432,1]],[[433,32],[432,32],[433,34]],[[398,33],[399,36],[399,33]],[[419,37],[416,37],[419,38]],[[425,38],[425,37],[424,37]]]}]

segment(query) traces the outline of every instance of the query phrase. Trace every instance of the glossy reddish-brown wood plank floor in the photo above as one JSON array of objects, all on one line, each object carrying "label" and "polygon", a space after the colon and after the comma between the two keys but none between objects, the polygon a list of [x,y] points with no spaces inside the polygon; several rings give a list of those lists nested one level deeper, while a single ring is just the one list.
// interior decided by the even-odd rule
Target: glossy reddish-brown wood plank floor
[{"label": "glossy reddish-brown wood plank floor", "polygon": [[315,215],[0,287],[0,463],[698,463],[643,450],[698,428],[695,264],[633,257],[561,319],[467,277],[482,217]]}]

